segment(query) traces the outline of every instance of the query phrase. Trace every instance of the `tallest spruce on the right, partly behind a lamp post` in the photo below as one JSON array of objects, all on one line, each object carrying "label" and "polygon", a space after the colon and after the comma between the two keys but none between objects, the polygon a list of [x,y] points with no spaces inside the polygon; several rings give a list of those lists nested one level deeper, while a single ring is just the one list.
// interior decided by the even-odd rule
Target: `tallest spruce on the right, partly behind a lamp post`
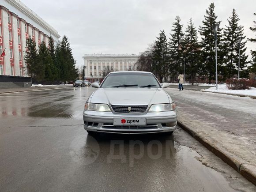
[{"label": "tallest spruce on the right, partly behind a lamp post", "polygon": [[[203,26],[199,27],[199,32],[202,38],[201,48],[202,48],[202,59],[203,59],[203,70],[204,75],[208,75],[209,83],[215,77],[215,34],[212,30],[212,26],[216,23],[221,23],[216,21],[217,16],[214,12],[215,5],[211,3],[209,8],[206,10],[206,15],[204,15]],[[217,31],[217,52],[218,52],[218,72],[222,67],[223,61],[223,48],[222,48],[222,28],[218,28]]]}]

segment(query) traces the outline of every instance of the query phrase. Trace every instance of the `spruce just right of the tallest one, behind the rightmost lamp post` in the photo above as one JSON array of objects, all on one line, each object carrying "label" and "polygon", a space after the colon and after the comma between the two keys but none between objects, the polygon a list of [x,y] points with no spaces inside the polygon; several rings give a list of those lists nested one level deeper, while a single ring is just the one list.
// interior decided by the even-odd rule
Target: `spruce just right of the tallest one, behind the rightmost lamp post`
[{"label": "spruce just right of the tallest one, behind the rightmost lamp post", "polygon": [[239,59],[239,43],[238,38],[241,38],[240,44],[240,70],[243,70],[248,62],[246,61],[248,55],[245,54],[246,47],[245,44],[247,41],[244,36],[244,27],[238,25],[239,17],[233,9],[232,15],[227,19],[228,26],[224,28],[224,47],[226,49],[225,63],[226,63],[226,72],[227,77],[231,78],[234,74],[237,74],[238,69],[238,59]]}]

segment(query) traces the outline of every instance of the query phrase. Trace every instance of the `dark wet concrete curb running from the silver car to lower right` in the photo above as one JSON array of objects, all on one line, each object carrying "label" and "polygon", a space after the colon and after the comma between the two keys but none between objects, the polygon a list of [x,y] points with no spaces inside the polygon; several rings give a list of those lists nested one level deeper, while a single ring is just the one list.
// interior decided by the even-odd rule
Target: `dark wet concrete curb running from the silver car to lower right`
[{"label": "dark wet concrete curb running from the silver car to lower right", "polygon": [[[218,144],[212,142],[211,138],[200,136],[200,133],[195,132],[192,128],[189,128],[189,125],[183,124],[180,120],[177,121],[177,124],[188,132],[192,137],[198,140],[203,144],[209,151],[214,153],[217,157],[221,158],[222,161],[226,162],[229,166],[235,169],[248,181],[256,185],[256,166],[248,164],[245,160],[237,157],[236,155],[230,153],[229,151],[223,150]],[[221,143],[220,143],[221,145]]]}]

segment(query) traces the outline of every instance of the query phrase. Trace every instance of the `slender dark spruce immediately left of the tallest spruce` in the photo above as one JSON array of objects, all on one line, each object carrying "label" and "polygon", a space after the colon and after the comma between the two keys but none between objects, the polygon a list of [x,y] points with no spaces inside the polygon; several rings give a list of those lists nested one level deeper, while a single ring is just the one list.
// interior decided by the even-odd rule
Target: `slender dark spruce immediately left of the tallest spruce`
[{"label": "slender dark spruce immediately left of the tallest spruce", "polygon": [[194,78],[199,72],[200,66],[200,45],[198,42],[197,30],[192,19],[189,20],[188,26],[185,30],[184,38],[184,58],[185,58],[185,78],[191,78],[192,84]]}]

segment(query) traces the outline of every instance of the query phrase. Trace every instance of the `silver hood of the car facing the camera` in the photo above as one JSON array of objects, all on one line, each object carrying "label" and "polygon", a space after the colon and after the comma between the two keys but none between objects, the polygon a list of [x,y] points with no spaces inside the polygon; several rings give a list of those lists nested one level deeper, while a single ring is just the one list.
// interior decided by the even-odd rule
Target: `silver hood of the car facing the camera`
[{"label": "silver hood of the car facing the camera", "polygon": [[88,99],[91,103],[109,105],[151,105],[173,102],[162,88],[109,87],[99,88]]}]

